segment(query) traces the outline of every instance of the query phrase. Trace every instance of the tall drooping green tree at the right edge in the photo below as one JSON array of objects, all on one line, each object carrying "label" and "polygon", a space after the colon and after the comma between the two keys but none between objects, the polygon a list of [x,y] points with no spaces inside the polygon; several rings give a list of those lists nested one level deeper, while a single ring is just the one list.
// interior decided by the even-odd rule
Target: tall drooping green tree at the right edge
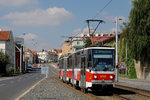
[{"label": "tall drooping green tree at the right edge", "polygon": [[150,0],[134,0],[129,20],[127,38],[132,57],[148,62],[150,59]]}]

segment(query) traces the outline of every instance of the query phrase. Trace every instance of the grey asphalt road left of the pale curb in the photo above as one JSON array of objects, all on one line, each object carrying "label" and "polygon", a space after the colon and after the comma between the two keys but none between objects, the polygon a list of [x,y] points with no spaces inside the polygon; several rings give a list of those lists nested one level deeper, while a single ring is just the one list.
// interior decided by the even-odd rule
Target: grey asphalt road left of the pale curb
[{"label": "grey asphalt road left of the pale curb", "polygon": [[44,78],[40,70],[16,77],[0,78],[0,100],[14,100],[27,89]]}]

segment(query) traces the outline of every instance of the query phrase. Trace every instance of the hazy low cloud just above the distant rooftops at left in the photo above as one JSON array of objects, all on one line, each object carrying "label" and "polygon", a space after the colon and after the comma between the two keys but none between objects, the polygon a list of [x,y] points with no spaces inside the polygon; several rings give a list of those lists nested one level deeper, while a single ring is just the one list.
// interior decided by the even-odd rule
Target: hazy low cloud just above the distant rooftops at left
[{"label": "hazy low cloud just above the distant rooftops at left", "polygon": [[50,44],[36,34],[28,33],[20,36],[24,38],[25,47],[31,50],[49,49]]}]

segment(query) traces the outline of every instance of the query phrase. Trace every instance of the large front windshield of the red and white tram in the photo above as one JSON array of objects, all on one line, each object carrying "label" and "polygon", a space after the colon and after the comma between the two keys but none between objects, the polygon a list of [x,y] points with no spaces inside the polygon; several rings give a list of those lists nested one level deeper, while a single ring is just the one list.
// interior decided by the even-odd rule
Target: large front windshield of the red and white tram
[{"label": "large front windshield of the red and white tram", "polygon": [[95,71],[113,71],[113,50],[93,50],[93,67]]}]

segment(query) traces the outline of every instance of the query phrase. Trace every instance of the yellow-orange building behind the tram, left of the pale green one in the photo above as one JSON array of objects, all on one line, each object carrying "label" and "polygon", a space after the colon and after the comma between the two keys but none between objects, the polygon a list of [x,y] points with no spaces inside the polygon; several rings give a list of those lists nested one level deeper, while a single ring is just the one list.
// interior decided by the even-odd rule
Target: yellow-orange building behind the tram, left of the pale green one
[{"label": "yellow-orange building behind the tram, left of the pale green one", "polygon": [[67,56],[68,54],[71,54],[71,44],[70,42],[64,42],[62,46],[62,55]]}]

